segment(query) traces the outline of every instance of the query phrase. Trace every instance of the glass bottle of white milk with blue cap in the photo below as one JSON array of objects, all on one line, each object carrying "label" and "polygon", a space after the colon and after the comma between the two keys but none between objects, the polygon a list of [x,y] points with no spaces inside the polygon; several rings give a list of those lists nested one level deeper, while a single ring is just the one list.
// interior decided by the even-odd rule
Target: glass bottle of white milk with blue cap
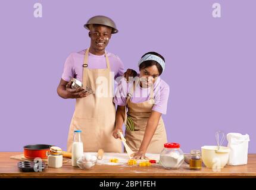
[{"label": "glass bottle of white milk with blue cap", "polygon": [[72,144],[72,159],[71,164],[77,167],[77,160],[83,156],[83,142],[80,138],[81,131],[74,131],[74,140]]}]

